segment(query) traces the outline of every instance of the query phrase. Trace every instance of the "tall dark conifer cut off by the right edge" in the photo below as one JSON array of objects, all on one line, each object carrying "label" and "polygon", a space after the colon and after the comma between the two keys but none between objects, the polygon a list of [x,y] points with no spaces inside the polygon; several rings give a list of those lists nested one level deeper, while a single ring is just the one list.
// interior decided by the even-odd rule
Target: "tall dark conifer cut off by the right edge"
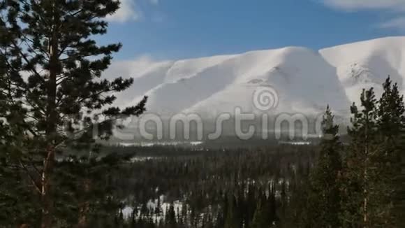
[{"label": "tall dark conifer cut off by the right edge", "polygon": [[377,123],[384,150],[378,158],[383,165],[381,178],[385,180],[387,191],[385,204],[381,206],[385,206],[385,227],[388,225],[404,227],[405,201],[402,197],[405,193],[405,178],[402,176],[404,145],[401,142],[402,136],[405,135],[404,97],[399,94],[397,83],[392,85],[389,76],[383,84],[383,89],[384,92],[378,102]]}]

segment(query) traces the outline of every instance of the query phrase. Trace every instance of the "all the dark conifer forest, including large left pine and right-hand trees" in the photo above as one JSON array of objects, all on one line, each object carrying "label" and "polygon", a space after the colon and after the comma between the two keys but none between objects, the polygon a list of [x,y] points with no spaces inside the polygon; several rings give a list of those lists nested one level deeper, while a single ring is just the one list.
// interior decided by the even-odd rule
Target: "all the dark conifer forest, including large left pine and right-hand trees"
[{"label": "all the dark conifer forest, including large left pine and right-hand trees", "polygon": [[117,120],[153,97],[122,106],[137,81],[103,77],[123,48],[100,39],[120,6],[0,0],[0,227],[405,227],[405,104],[389,72],[346,124],[325,104],[308,143],[124,146]]}]

